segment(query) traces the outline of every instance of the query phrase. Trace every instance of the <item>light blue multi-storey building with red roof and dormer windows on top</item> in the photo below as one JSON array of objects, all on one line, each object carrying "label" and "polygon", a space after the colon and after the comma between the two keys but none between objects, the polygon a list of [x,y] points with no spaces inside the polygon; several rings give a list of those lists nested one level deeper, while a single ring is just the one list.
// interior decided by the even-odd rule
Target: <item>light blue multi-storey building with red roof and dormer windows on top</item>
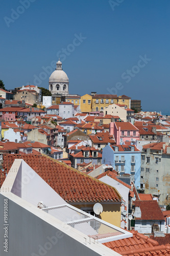
[{"label": "light blue multi-storey building with red roof and dormer windows on top", "polygon": [[112,165],[120,173],[132,175],[135,186],[140,187],[141,151],[135,145],[110,145],[103,148],[102,163]]}]

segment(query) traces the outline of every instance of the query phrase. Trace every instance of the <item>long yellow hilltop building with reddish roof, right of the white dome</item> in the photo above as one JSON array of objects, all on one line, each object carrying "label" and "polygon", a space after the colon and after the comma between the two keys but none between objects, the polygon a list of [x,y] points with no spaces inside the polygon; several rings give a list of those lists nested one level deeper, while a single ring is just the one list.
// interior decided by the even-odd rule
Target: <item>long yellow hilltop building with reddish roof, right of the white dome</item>
[{"label": "long yellow hilltop building with reddish roof, right of the white dome", "polygon": [[95,111],[104,111],[104,108],[113,103],[125,104],[130,108],[131,98],[122,95],[112,95],[112,94],[95,94],[92,96],[92,112]]}]

